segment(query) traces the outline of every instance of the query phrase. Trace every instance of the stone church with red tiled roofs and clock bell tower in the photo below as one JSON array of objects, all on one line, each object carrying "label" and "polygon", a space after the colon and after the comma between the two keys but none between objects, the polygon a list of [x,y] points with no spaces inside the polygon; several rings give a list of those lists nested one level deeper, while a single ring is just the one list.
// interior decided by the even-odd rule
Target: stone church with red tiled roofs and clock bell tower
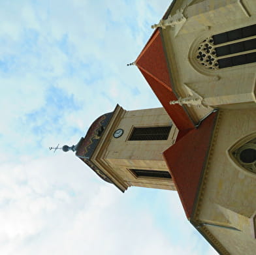
[{"label": "stone church with red tiled roofs and clock bell tower", "polygon": [[256,3],[174,0],[131,63],[163,108],[98,117],[72,150],[121,192],[177,190],[219,254],[256,250]]}]

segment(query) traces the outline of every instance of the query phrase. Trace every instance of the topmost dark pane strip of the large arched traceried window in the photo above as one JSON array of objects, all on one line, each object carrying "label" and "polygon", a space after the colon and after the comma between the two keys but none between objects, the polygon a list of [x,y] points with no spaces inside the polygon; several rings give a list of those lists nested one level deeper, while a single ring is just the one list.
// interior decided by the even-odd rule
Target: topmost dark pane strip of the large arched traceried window
[{"label": "topmost dark pane strip of the large arched traceried window", "polygon": [[242,27],[240,29],[234,29],[225,33],[214,35],[214,44],[223,44],[224,42],[231,42],[232,40],[238,40],[246,37],[253,37],[256,35],[256,25],[249,25],[248,27]]}]

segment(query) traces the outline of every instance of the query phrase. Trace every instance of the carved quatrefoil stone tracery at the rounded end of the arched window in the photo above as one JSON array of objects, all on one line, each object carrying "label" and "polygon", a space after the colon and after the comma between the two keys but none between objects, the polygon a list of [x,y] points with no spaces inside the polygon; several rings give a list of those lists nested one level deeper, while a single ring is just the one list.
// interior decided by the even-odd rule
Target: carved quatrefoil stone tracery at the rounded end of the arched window
[{"label": "carved quatrefoil stone tracery at the rounded end of the arched window", "polygon": [[219,69],[219,64],[217,63],[216,50],[214,48],[214,39],[208,37],[203,40],[197,49],[197,61],[208,69]]}]

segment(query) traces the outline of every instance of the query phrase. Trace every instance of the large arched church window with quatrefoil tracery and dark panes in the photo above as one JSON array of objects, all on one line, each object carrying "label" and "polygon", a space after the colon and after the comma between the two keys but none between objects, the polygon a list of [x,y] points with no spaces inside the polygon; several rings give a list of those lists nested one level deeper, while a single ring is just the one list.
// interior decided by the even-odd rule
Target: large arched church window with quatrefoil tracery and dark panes
[{"label": "large arched church window with quatrefoil tracery and dark panes", "polygon": [[203,40],[197,59],[208,69],[219,69],[256,62],[256,25],[249,25]]}]

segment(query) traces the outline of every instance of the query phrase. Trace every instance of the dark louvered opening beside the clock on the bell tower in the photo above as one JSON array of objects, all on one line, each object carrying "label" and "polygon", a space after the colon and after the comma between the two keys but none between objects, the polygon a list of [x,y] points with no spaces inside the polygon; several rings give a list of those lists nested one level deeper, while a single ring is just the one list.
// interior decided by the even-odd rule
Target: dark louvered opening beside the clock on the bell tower
[{"label": "dark louvered opening beside the clock on the bell tower", "polygon": [[134,128],[129,141],[167,140],[171,127]]}]

